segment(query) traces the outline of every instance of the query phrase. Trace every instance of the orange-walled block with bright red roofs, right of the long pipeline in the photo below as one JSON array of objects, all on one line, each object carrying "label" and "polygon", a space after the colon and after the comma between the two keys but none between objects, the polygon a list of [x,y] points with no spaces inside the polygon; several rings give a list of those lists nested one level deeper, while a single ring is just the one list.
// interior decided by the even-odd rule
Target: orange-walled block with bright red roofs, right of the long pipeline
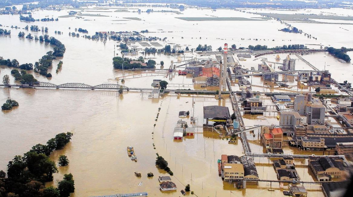
[{"label": "orange-walled block with bright red roofs, right of the long pipeline", "polygon": [[266,148],[282,148],[282,129],[273,127],[262,127],[261,141]]}]

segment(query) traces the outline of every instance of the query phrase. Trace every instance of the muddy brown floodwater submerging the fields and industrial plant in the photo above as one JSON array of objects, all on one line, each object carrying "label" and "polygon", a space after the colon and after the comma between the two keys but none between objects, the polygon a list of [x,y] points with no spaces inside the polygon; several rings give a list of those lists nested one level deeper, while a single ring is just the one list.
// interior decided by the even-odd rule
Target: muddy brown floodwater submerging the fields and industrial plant
[{"label": "muddy brown floodwater submerging the fields and industrial plant", "polygon": [[[144,8],[143,8],[144,9]],[[158,8],[154,8],[158,10]],[[160,8],[162,9],[162,8]],[[163,8],[168,9],[168,8]],[[35,11],[32,13],[34,18],[58,17],[67,15],[67,12],[73,9],[63,9],[59,11]],[[115,10],[115,9],[113,9]],[[97,10],[99,11],[99,10]],[[263,12],[263,10],[262,10]],[[273,10],[271,10],[273,12]],[[353,15],[351,10],[343,10],[342,13]],[[68,32],[74,31],[74,28],[84,28],[89,31],[89,35],[96,31],[140,31],[148,29],[148,36],[168,37],[167,42],[160,42],[162,45],[167,43],[181,44],[182,47],[196,48],[198,44],[212,45],[214,49],[222,46],[224,43],[240,46],[248,45],[268,45],[273,47],[284,44],[323,44],[335,47],[351,47],[353,42],[351,36],[352,25],[332,25],[332,24],[305,24],[295,23],[303,30],[315,31],[317,40],[308,39],[303,35],[289,34],[277,31],[284,28],[279,22],[274,20],[265,21],[184,21],[174,17],[208,17],[215,15],[217,17],[258,17],[257,15],[247,14],[228,9],[185,9],[183,14],[174,13],[151,13],[137,14],[133,12],[86,12],[100,13],[109,15],[109,17],[84,17],[59,18],[59,21],[25,23],[19,21],[18,15],[0,15],[1,28],[10,29],[4,26],[38,25],[49,28],[49,35],[59,39],[66,46],[66,52],[62,59],[54,61],[52,68],[52,79],[47,79],[34,73],[38,81],[50,82],[54,84],[63,84],[68,82],[86,83],[89,85],[98,85],[103,83],[116,83],[115,77],[122,76],[121,71],[114,70],[112,58],[114,57],[114,45],[116,42],[108,40],[104,45],[102,42],[96,42],[82,37],[70,37]],[[123,17],[138,17],[143,20],[114,21],[123,20]],[[121,23],[121,24],[116,24]],[[125,24],[123,24],[125,23]],[[315,29],[309,27],[315,25]],[[337,36],[333,39],[327,39],[332,36],[330,32],[324,31],[326,28],[335,26],[335,31],[345,32],[345,36]],[[68,29],[71,27],[71,30]],[[343,27],[346,30],[341,30]],[[62,31],[62,35],[55,35],[54,31]],[[332,30],[332,29],[331,29]],[[0,36],[0,56],[4,58],[16,58],[20,64],[34,63],[41,58],[47,51],[52,50],[50,45],[35,42],[34,40],[18,38],[20,31],[11,29],[10,37]],[[24,31],[26,34],[25,30]],[[162,33],[162,31],[165,31]],[[168,32],[167,32],[168,31]],[[198,32],[199,31],[199,32]],[[341,33],[342,33],[341,32]],[[32,35],[42,35],[41,32]],[[82,36],[82,34],[80,33]],[[181,37],[184,37],[183,39]],[[202,37],[201,40],[199,37]],[[262,39],[262,40],[241,40],[241,38]],[[265,39],[265,40],[263,40]],[[270,41],[275,39],[275,41]],[[348,40],[347,40],[348,39]],[[312,47],[313,45],[310,45]],[[314,45],[315,48],[318,46]],[[308,46],[309,47],[309,46]],[[115,53],[119,53],[116,49]],[[282,54],[285,58],[287,54]],[[352,52],[349,53],[351,57]],[[198,58],[209,58],[214,56],[200,56],[196,53],[186,53],[186,58],[196,56]],[[323,57],[325,56],[325,57]],[[154,58],[159,63],[164,61],[165,68],[168,68],[170,61],[177,61],[175,56],[147,55],[146,58]],[[274,56],[267,57],[269,61],[275,61]],[[295,58],[295,57],[294,57]],[[339,79],[342,70],[345,75],[352,75],[352,69],[348,69],[350,63],[338,63],[336,59],[324,53],[307,55],[306,60],[316,64],[322,69],[322,64],[330,64],[329,71],[332,77]],[[62,60],[64,64],[58,74],[55,74],[56,64]],[[260,60],[240,62],[244,68],[254,66]],[[314,63],[313,63],[314,64]],[[316,65],[314,64],[314,65]],[[157,65],[158,67],[159,65]],[[303,62],[297,61],[297,68],[309,69],[310,67]],[[327,67],[326,67],[327,68]],[[10,74],[11,68],[0,67],[0,76]],[[126,71],[125,75],[131,75],[134,72]],[[147,75],[147,74],[146,74]],[[11,83],[14,83],[13,77]],[[345,77],[351,80],[351,77]],[[149,88],[153,79],[166,79],[165,75],[144,76],[129,78],[125,80],[127,87]],[[261,88],[265,82],[260,77],[253,77],[253,84],[260,87],[254,87],[255,91],[266,89]],[[295,81],[288,77],[291,84]],[[292,81],[291,81],[292,80]],[[181,88],[180,84],[192,83],[192,78],[187,76],[174,76],[172,81],[168,81],[170,87]],[[120,83],[120,82],[119,82]],[[236,89],[237,85],[234,86]],[[293,87],[294,90],[295,87]],[[270,90],[265,90],[270,91]],[[276,90],[279,91],[279,90]],[[284,90],[281,90],[284,91]],[[192,109],[192,100],[195,99],[195,111]],[[180,196],[179,191],[184,189],[184,185],[191,184],[191,190],[197,196],[281,196],[282,191],[278,184],[273,184],[275,191],[268,191],[270,185],[259,183],[258,186],[247,185],[246,190],[236,190],[228,183],[222,182],[217,172],[217,159],[221,154],[243,155],[241,142],[237,144],[228,144],[227,139],[210,131],[203,131],[202,127],[197,127],[197,134],[193,138],[184,138],[183,141],[174,141],[172,138],[173,128],[179,120],[178,112],[180,110],[190,110],[194,117],[198,117],[198,125],[203,122],[203,106],[221,105],[228,106],[231,109],[231,103],[228,98],[221,101],[213,96],[202,95],[182,95],[170,93],[160,99],[148,99],[146,92],[124,92],[116,96],[116,91],[98,91],[98,90],[62,90],[62,89],[22,89],[11,88],[11,98],[17,100],[19,107],[11,111],[2,111],[0,113],[1,129],[0,134],[0,169],[6,169],[7,162],[14,155],[23,154],[37,143],[45,143],[48,139],[60,132],[73,132],[72,141],[60,151],[54,152],[50,157],[57,160],[59,155],[65,154],[70,160],[67,167],[59,167],[59,173],[54,175],[54,182],[62,179],[63,174],[72,173],[75,179],[76,191],[72,196],[93,196],[109,195],[114,193],[143,192],[149,193],[149,196],[161,196],[158,189],[157,177],[165,174],[155,166],[155,153],[159,153],[169,163],[170,169],[174,172],[173,182],[177,184],[177,192],[163,193],[163,196]],[[0,88],[0,100],[7,98],[7,89]],[[155,121],[159,112],[158,120]],[[253,115],[244,115],[246,126],[258,124],[278,123],[276,115],[265,114],[267,119],[260,120]],[[190,119],[187,120],[190,122]],[[153,125],[156,123],[156,127]],[[190,124],[189,124],[190,125]],[[256,132],[255,132],[256,134]],[[259,143],[258,135],[249,135],[250,147],[253,151],[263,152]],[[153,144],[155,146],[153,146]],[[138,161],[131,161],[126,154],[126,147],[134,146]],[[154,149],[154,147],[156,149]],[[292,147],[285,147],[285,153],[304,153]],[[315,153],[320,154],[320,153]],[[267,159],[255,159],[255,162],[268,163]],[[297,164],[304,165],[306,161],[296,160]],[[276,173],[271,165],[257,166],[260,178],[276,179]],[[142,173],[142,178],[134,176],[134,172]],[[155,177],[147,178],[146,174],[153,172]],[[308,169],[298,168],[300,177],[304,180],[311,180]],[[143,186],[137,186],[143,181]],[[309,196],[323,196],[318,185],[305,185]]]}]

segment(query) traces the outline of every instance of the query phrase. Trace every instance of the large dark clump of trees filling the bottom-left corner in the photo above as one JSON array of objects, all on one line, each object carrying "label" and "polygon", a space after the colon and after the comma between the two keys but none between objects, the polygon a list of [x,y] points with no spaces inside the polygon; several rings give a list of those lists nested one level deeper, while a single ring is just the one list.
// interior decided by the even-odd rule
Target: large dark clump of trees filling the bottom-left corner
[{"label": "large dark clump of trees filling the bottom-left corner", "polygon": [[55,162],[49,155],[54,150],[62,149],[72,137],[72,133],[60,133],[48,140],[46,145],[37,144],[30,151],[16,155],[7,165],[7,176],[0,171],[0,196],[22,197],[69,197],[74,192],[72,174],[65,174],[58,182],[58,188],[45,188],[45,182],[53,181],[53,174],[58,172]]}]

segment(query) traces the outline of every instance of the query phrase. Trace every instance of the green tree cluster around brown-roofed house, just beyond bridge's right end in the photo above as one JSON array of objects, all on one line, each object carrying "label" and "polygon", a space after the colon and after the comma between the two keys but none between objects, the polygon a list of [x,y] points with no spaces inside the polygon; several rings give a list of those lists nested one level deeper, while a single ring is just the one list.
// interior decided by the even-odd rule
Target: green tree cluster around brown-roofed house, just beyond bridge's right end
[{"label": "green tree cluster around brown-roofed house, just beyond bridge's right end", "polygon": [[129,58],[124,58],[122,59],[121,57],[114,57],[113,58],[113,66],[115,69],[122,69],[123,64],[124,64],[124,69],[134,69],[134,68],[146,68],[146,69],[154,69],[156,68],[156,61],[149,59],[146,62],[146,66],[143,66],[141,63],[130,63],[131,61],[136,61],[132,60]]}]

